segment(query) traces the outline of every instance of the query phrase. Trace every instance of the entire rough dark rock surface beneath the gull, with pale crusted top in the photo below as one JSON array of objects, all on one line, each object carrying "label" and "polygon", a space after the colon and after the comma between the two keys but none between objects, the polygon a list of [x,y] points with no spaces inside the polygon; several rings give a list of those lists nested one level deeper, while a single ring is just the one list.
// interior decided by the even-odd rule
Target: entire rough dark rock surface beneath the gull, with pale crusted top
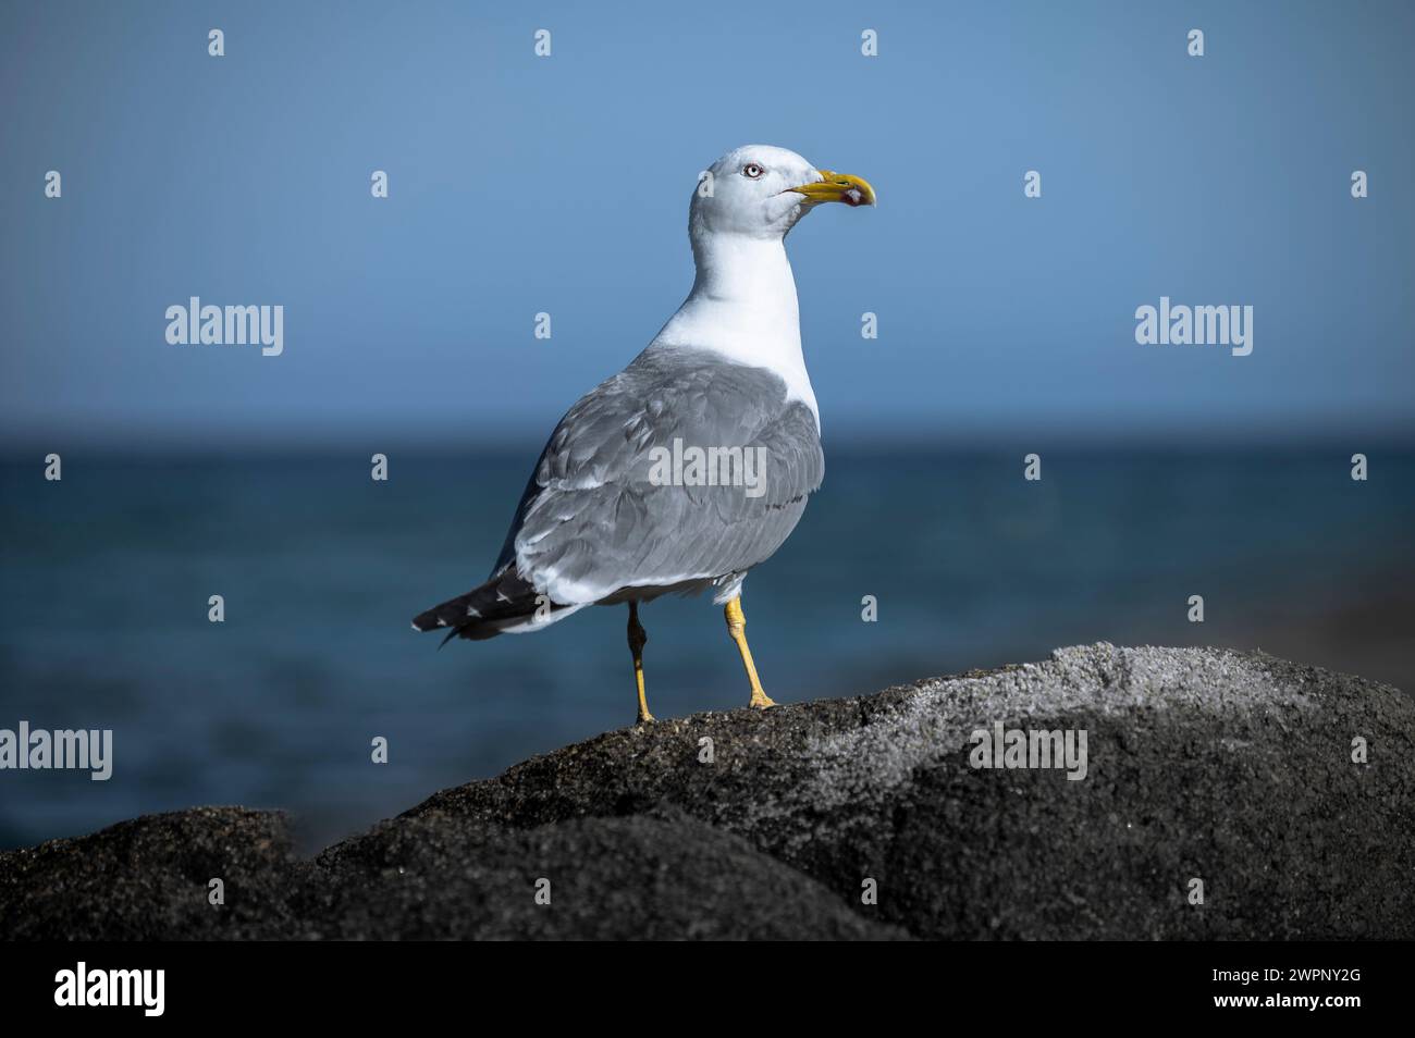
[{"label": "entire rough dark rock surface beneath the gull, with pale crusted top", "polygon": [[[995,721],[1085,730],[1085,778],[971,766],[971,733]],[[0,931],[1411,939],[1411,875],[1409,699],[1262,653],[1102,643],[606,733],[313,861],[291,853],[282,815],[238,807],[52,840],[0,854]]]}]

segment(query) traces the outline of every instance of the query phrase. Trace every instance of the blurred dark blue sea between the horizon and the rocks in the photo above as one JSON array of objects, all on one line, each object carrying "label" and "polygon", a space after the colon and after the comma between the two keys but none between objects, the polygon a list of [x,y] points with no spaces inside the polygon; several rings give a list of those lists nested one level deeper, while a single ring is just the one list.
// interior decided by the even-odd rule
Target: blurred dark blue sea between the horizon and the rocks
[{"label": "blurred dark blue sea between the horizon and the rocks", "polygon": [[[833,450],[747,580],[778,701],[1060,645],[1232,645],[1415,686],[1415,451]],[[0,847],[139,813],[289,809],[313,849],[429,793],[634,718],[627,611],[490,642],[417,635],[480,583],[538,445],[478,455],[64,454],[0,465],[0,728],[112,728],[113,775],[0,774]],[[208,621],[208,598],[225,621]],[[1204,622],[1187,619],[1204,597]],[[877,621],[862,619],[862,600]],[[746,703],[710,600],[642,610],[649,704]],[[371,741],[388,740],[388,764]]]}]

